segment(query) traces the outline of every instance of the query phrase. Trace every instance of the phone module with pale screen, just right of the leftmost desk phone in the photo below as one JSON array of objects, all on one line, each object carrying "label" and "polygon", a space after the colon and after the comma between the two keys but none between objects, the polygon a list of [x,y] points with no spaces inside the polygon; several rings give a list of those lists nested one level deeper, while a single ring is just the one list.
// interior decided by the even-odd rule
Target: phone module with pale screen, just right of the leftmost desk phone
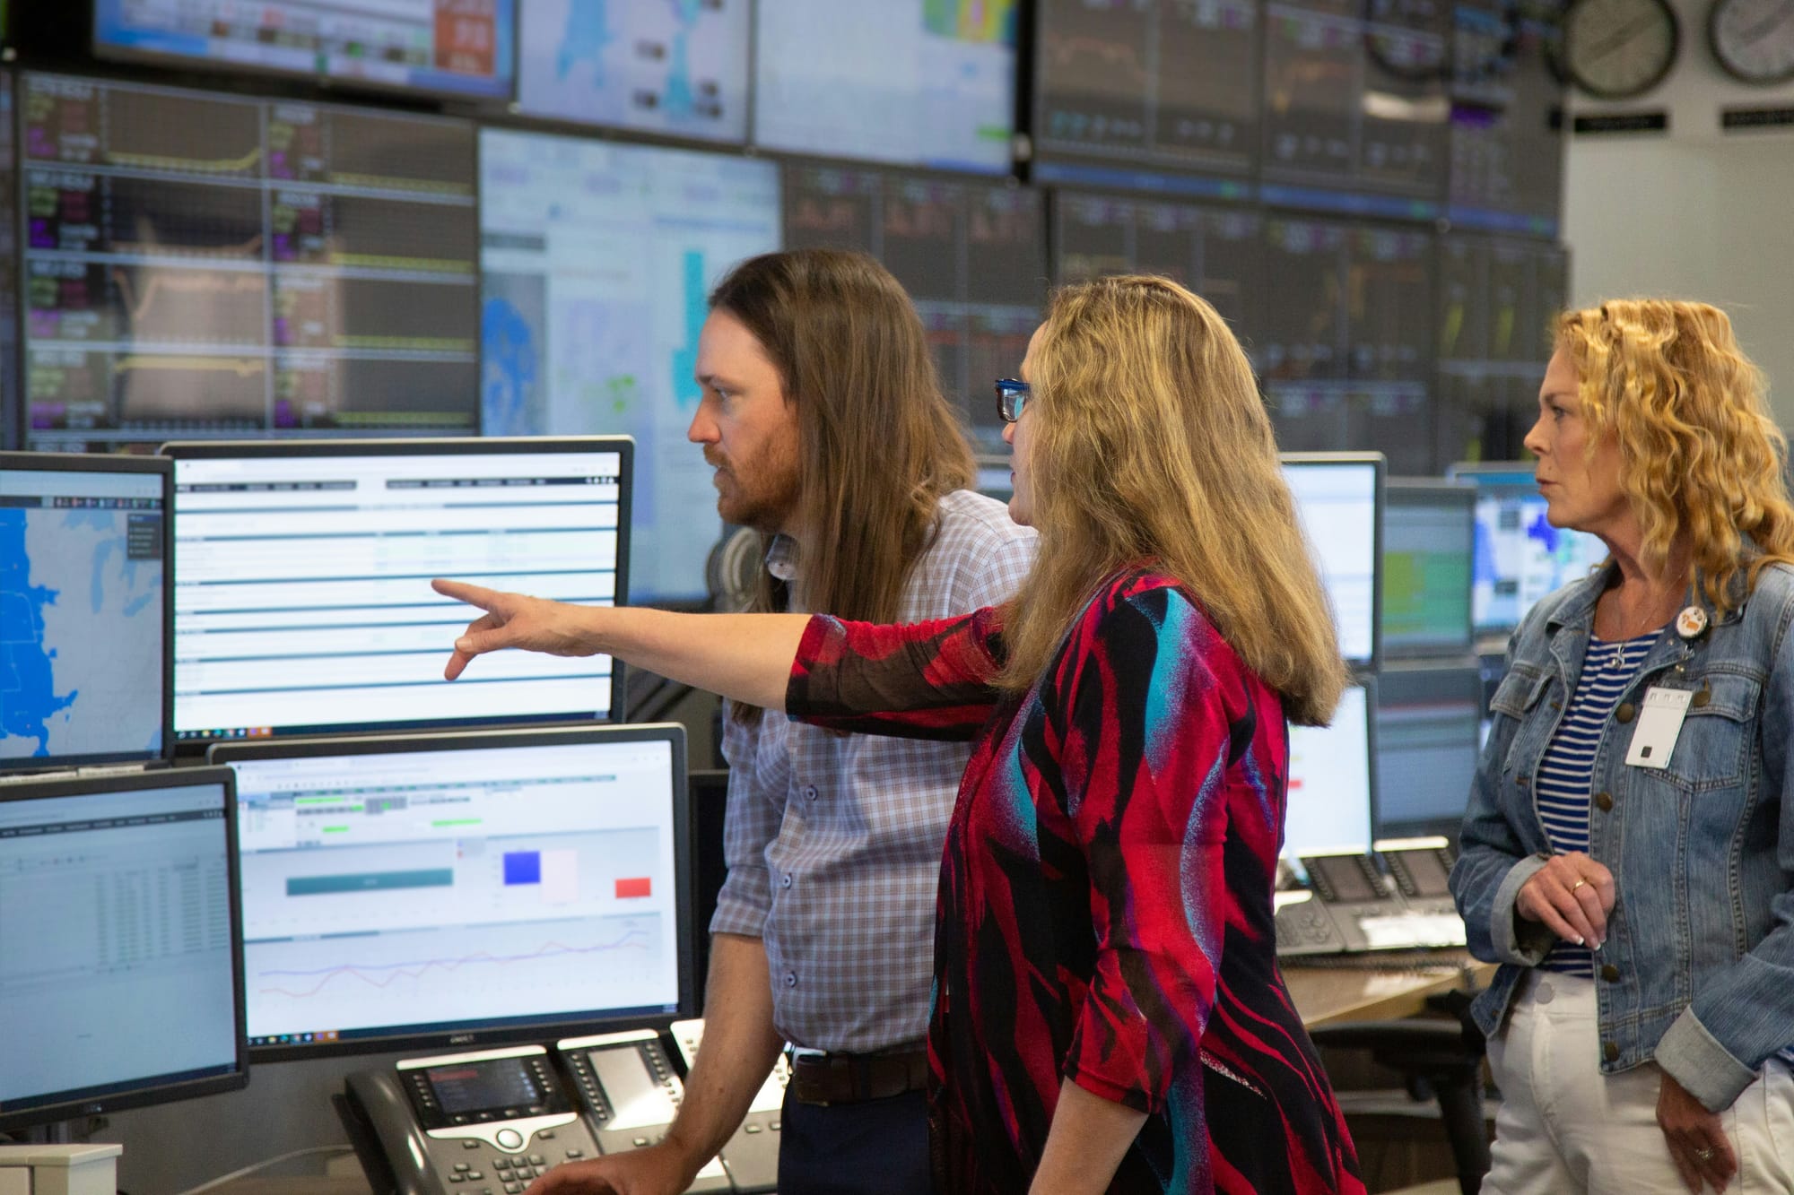
[{"label": "phone module with pale screen, just right of the leftmost desk phone", "polygon": [[[567,1037],[554,1051],[572,1075],[574,1091],[606,1154],[642,1148],[660,1141],[678,1114],[685,1087],[655,1030],[624,1030],[594,1037]],[[728,1191],[728,1172],[718,1159],[687,1188]]]}]

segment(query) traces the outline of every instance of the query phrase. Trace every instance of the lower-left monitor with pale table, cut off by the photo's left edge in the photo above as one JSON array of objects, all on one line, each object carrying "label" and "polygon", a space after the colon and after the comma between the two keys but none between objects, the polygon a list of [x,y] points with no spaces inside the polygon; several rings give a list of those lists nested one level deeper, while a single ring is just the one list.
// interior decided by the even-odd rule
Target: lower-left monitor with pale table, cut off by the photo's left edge
[{"label": "lower-left monitor with pale table, cut off by the photo's left edge", "polygon": [[228,768],[0,784],[0,1130],[248,1082]]}]

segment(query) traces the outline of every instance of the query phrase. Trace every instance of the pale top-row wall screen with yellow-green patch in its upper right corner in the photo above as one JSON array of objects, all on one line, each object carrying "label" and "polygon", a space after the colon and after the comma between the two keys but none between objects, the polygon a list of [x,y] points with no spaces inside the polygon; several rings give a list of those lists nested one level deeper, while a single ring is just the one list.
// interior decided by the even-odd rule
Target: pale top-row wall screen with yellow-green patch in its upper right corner
[{"label": "pale top-row wall screen with yellow-green patch in its upper right corner", "polygon": [[1015,0],[755,5],[753,144],[1008,174]]}]

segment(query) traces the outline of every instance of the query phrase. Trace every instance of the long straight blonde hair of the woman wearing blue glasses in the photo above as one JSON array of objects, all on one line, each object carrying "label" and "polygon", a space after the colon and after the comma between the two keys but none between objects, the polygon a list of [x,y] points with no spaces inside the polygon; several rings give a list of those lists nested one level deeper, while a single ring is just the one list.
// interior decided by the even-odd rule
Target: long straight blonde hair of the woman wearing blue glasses
[{"label": "long straight blonde hair of the woman wearing blue glasses", "polygon": [[1347,680],[1333,615],[1220,314],[1166,278],[1066,287],[1032,382],[1041,551],[1006,619],[1003,684],[1032,684],[1098,587],[1148,565],[1195,596],[1292,721],[1324,725]]}]

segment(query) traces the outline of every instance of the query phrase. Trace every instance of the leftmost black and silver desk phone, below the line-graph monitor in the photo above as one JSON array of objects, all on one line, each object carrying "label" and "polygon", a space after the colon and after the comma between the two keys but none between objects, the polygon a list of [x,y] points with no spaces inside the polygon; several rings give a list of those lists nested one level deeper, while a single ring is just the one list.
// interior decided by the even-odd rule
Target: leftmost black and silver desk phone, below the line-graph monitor
[{"label": "leftmost black and silver desk phone, below the line-graph monitor", "polygon": [[[599,1154],[542,1046],[405,1059],[348,1077],[350,1116],[377,1156],[377,1195],[517,1195],[549,1166]],[[384,1164],[382,1164],[384,1163]]]}]

